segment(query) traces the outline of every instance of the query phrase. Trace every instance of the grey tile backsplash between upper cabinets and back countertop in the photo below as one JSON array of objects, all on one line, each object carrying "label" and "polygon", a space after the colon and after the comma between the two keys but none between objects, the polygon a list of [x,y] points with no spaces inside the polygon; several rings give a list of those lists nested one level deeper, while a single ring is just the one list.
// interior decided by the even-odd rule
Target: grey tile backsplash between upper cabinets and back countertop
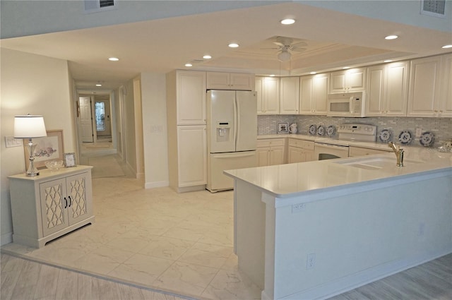
[{"label": "grey tile backsplash between upper cabinets and back countertop", "polygon": [[258,136],[278,133],[278,123],[288,122],[289,125],[297,123],[298,133],[309,134],[309,126],[339,126],[345,123],[371,124],[376,126],[377,138],[383,129],[392,132],[394,142],[398,141],[400,132],[408,130],[412,133],[413,140],[410,145],[420,146],[419,138],[415,138],[416,128],[422,132],[434,133],[434,147],[439,147],[445,141],[452,140],[452,118],[418,118],[418,117],[369,117],[369,118],[343,118],[332,116],[306,116],[306,115],[261,115],[257,117]]}]

